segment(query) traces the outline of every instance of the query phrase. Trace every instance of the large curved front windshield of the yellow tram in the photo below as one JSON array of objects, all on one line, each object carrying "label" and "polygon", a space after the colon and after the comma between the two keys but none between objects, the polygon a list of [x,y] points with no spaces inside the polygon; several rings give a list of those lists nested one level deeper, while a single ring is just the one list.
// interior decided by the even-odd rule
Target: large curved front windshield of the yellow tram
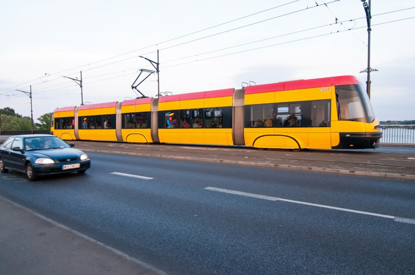
[{"label": "large curved front windshield of the yellow tram", "polygon": [[375,120],[369,97],[361,85],[336,86],[339,120],[370,123]]}]

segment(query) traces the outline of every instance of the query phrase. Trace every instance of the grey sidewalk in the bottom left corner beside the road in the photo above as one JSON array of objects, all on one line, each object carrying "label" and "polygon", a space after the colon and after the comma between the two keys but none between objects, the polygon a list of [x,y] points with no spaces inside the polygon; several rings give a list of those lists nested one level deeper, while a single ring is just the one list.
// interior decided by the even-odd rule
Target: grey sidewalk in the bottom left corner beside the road
[{"label": "grey sidewalk in the bottom left corner beside the road", "polygon": [[166,274],[0,197],[0,274]]}]

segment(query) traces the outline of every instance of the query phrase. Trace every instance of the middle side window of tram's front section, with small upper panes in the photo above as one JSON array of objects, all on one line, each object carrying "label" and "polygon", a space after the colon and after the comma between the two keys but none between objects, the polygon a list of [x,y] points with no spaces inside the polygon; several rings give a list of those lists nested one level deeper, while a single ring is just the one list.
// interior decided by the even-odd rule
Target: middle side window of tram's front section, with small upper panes
[{"label": "middle side window of tram's front section, with small upper panes", "polygon": [[277,105],[277,127],[301,127],[301,103],[280,103]]}]

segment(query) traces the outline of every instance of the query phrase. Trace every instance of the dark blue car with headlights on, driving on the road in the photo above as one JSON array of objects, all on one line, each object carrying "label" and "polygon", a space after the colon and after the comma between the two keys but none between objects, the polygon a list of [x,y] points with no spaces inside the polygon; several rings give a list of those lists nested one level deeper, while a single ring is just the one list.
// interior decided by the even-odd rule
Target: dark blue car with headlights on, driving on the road
[{"label": "dark blue car with headlights on, driving on the road", "polygon": [[26,173],[29,180],[38,176],[78,172],[91,167],[88,155],[52,135],[20,135],[8,138],[0,146],[0,172]]}]

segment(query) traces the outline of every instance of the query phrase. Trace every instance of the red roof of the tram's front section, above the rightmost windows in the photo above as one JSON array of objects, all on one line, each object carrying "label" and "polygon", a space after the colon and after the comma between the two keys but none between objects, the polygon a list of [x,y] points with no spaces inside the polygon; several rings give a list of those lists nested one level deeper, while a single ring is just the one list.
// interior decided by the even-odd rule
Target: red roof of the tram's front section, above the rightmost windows
[{"label": "red roof of the tram's front section, above the rightmost windows", "polygon": [[354,85],[360,84],[358,79],[352,75],[334,76],[317,79],[302,79],[294,81],[279,82],[273,84],[264,84],[256,86],[247,86],[245,88],[246,94],[266,93],[289,91],[297,89],[307,89],[316,87],[339,86],[339,85]]}]

